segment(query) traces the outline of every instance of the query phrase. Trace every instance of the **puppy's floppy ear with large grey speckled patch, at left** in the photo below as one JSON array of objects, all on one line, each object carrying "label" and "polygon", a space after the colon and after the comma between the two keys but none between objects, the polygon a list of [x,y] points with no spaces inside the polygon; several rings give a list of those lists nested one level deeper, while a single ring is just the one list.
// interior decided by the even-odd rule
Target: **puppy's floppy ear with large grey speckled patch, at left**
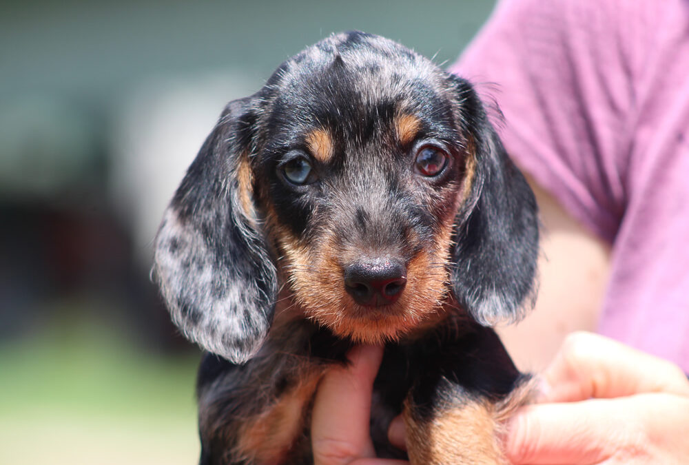
[{"label": "puppy's floppy ear with large grey speckled patch, at left", "polygon": [[254,212],[253,101],[227,105],[165,211],[155,243],[154,275],[172,320],[187,338],[234,363],[258,351],[277,292]]}]

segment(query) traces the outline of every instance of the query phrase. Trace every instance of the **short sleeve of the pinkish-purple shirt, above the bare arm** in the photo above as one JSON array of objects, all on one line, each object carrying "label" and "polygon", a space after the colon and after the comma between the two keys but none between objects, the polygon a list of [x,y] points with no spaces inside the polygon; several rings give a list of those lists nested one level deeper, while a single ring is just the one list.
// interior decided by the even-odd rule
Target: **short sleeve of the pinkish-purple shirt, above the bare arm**
[{"label": "short sleeve of the pinkish-purple shirt, above the bare arm", "polygon": [[612,3],[502,1],[451,68],[497,101],[517,163],[610,242],[626,201],[618,167],[635,93],[634,44],[620,47]]}]

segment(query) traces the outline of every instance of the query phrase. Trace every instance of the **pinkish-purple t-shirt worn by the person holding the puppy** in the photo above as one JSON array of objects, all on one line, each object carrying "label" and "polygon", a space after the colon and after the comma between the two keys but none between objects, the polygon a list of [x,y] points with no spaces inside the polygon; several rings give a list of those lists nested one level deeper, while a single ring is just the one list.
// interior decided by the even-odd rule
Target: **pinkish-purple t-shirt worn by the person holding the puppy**
[{"label": "pinkish-purple t-shirt worn by the person holding the puppy", "polygon": [[504,0],[450,69],[613,245],[599,331],[689,372],[689,1]]}]

